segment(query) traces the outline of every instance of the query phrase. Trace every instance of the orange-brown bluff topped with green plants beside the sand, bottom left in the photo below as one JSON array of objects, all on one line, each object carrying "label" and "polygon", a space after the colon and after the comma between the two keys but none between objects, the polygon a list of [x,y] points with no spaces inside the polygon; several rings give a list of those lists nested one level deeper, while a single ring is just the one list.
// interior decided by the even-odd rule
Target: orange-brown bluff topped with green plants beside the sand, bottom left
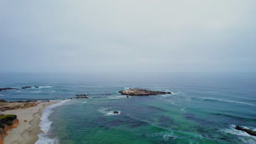
[{"label": "orange-brown bluff topped with green plants beside the sand, bottom left", "polygon": [[9,129],[16,128],[19,124],[19,119],[16,115],[1,115],[0,116],[0,144],[3,144],[4,136],[7,136]]}]

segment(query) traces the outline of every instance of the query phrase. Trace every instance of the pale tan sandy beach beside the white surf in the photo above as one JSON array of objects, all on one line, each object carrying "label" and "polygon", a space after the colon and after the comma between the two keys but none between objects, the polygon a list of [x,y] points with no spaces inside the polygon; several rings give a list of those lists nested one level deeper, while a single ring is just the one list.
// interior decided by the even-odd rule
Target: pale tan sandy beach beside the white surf
[{"label": "pale tan sandy beach beside the white surf", "polygon": [[[32,144],[35,143],[39,137],[38,134],[43,133],[40,130],[39,123],[45,107],[57,103],[50,101],[46,103],[39,103],[37,106],[32,106],[28,109],[7,110],[1,112],[5,115],[17,115],[19,125],[17,128],[10,129],[8,135],[4,137],[4,144]],[[24,122],[24,121],[27,122]]]}]

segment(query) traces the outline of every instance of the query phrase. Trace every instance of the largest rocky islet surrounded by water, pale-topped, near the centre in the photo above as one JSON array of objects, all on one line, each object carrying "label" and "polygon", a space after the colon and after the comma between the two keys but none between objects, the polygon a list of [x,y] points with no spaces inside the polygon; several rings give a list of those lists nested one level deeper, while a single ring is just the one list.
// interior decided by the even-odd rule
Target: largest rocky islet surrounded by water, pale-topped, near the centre
[{"label": "largest rocky islet surrounded by water, pale-topped, near the centre", "polygon": [[130,88],[125,91],[119,91],[122,95],[136,95],[136,96],[148,96],[148,95],[158,95],[158,94],[172,94],[171,92],[161,92],[161,91],[149,91],[147,89],[141,88]]}]

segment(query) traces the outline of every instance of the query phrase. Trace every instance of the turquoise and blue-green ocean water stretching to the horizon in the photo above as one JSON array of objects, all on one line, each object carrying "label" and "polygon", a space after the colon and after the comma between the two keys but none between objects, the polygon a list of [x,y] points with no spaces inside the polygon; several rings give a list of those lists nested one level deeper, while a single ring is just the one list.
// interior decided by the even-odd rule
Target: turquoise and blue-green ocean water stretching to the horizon
[{"label": "turquoise and blue-green ocean water stretching to the horizon", "polygon": [[[0,87],[39,88],[2,91],[0,98],[61,101],[45,110],[40,126],[46,133],[38,143],[256,143],[256,137],[235,130],[235,125],[256,130],[255,78],[228,73],[1,74]],[[126,98],[117,93],[135,87],[173,94]],[[62,101],[75,94],[91,98]]]}]

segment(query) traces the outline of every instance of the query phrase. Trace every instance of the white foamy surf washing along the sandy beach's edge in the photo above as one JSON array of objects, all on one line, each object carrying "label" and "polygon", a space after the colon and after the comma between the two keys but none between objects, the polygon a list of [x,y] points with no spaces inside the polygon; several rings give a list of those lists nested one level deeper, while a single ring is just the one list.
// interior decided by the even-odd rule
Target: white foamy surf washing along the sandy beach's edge
[{"label": "white foamy surf washing along the sandy beach's edge", "polygon": [[[68,100],[70,100],[70,99],[68,99]],[[40,118],[41,122],[39,124],[41,130],[43,130],[44,133],[38,135],[39,140],[36,142],[36,144],[56,144],[56,143],[59,143],[59,140],[57,140],[56,138],[51,139],[50,137],[48,137],[48,131],[50,130],[51,123],[53,123],[53,122],[50,121],[49,116],[51,115],[51,113],[54,112],[52,110],[54,107],[61,106],[65,103],[67,103],[68,100],[62,100],[59,103],[50,105],[50,106],[48,106],[44,109],[43,115]]]}]

